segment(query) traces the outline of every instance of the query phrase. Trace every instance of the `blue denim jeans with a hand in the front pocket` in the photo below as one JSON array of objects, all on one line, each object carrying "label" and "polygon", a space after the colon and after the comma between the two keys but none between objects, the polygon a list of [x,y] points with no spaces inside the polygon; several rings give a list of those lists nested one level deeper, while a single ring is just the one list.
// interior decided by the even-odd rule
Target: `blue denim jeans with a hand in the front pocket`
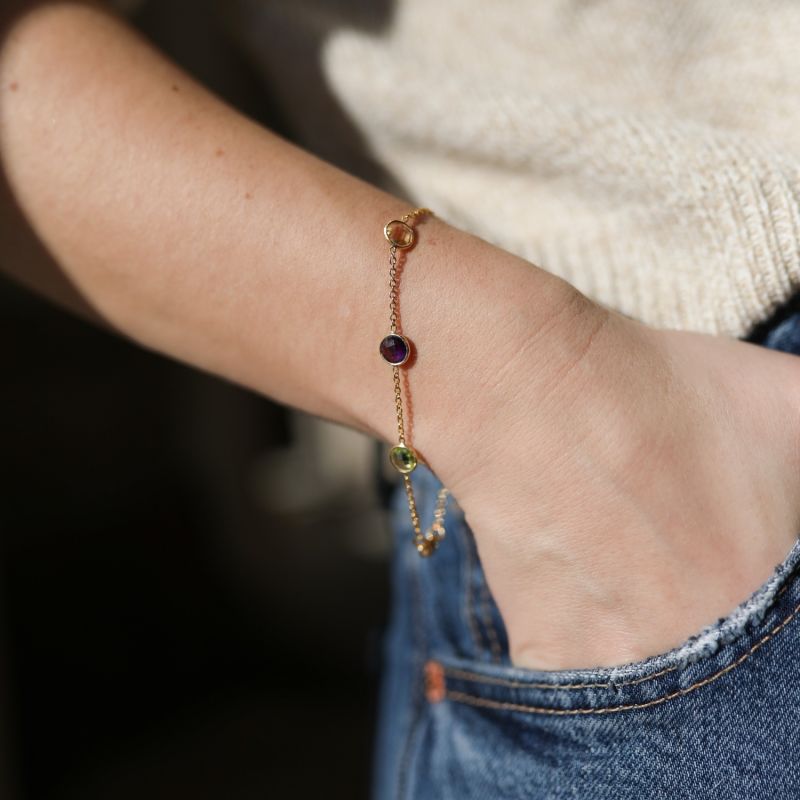
[{"label": "blue denim jeans with a hand in the front pocket", "polygon": [[[760,343],[800,353],[800,312]],[[424,467],[413,481],[430,519],[440,484]],[[429,559],[411,545],[402,488],[391,514],[375,800],[800,797],[800,543],[729,616],[675,650],[536,671],[510,664],[457,506]]]}]

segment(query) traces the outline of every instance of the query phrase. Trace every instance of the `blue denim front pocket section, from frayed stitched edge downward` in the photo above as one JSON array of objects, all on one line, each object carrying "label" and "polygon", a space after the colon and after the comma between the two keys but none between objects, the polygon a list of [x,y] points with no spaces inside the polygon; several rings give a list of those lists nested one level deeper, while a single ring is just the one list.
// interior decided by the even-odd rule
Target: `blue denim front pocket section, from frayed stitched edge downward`
[{"label": "blue denim front pocket section, from frayed stitched edge downward", "polygon": [[732,613],[616,667],[520,669],[432,642],[407,796],[800,796],[799,576],[800,542]]}]

